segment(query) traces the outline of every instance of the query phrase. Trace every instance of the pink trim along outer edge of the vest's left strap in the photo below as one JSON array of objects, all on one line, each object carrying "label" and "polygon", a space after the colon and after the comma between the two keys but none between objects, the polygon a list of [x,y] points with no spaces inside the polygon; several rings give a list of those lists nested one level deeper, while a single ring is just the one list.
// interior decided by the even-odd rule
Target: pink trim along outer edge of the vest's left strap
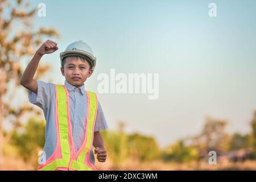
[{"label": "pink trim along outer edge of the vest's left strap", "polygon": [[60,148],[60,134],[59,134],[59,115],[58,115],[58,102],[57,102],[57,86],[55,85],[55,126],[56,126],[56,147],[53,154],[46,160],[46,164],[41,164],[38,170],[45,167],[47,164],[53,162],[55,159],[61,159],[61,148]]}]

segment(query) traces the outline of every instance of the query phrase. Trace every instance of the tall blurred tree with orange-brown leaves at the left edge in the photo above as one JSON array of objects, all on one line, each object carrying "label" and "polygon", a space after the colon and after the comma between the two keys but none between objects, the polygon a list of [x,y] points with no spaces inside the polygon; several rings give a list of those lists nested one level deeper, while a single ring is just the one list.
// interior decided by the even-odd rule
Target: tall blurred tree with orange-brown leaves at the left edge
[{"label": "tall blurred tree with orange-brown leaves at the left edge", "polygon": [[[20,61],[32,56],[42,43],[44,36],[58,36],[52,28],[39,28],[34,30],[32,19],[37,9],[28,11],[29,3],[23,0],[0,0],[0,169],[2,146],[9,142],[11,133],[3,136],[3,123],[9,122],[13,130],[20,126],[20,118],[26,111],[32,111],[33,107],[24,104],[13,107],[13,98],[22,75]],[[49,65],[41,65],[36,77],[42,76],[49,69]],[[12,89],[9,89],[12,88]],[[9,93],[9,98],[7,97]],[[5,99],[4,99],[5,98]]]}]

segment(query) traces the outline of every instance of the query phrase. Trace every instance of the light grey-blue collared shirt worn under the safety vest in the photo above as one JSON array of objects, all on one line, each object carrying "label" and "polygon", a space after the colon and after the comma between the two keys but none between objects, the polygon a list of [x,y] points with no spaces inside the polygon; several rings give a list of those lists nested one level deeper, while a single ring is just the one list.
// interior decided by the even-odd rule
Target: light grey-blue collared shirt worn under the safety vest
[{"label": "light grey-blue collared shirt worn under the safety vest", "polygon": [[[31,104],[39,106],[44,112],[44,118],[46,118],[46,142],[44,144],[44,152],[46,153],[46,160],[53,154],[56,147],[56,126],[55,126],[55,85],[52,83],[46,83],[43,81],[38,82],[38,94],[29,92],[28,99]],[[69,107],[71,114],[71,123],[73,129],[73,141],[76,152],[82,145],[85,128],[86,128],[86,110],[87,110],[87,98],[84,89],[84,85],[80,88],[76,88],[65,81],[65,86],[69,93]],[[102,111],[100,102],[98,102],[98,110],[96,123],[94,125],[94,132],[108,129],[104,113]],[[93,150],[90,151],[90,163],[94,163]]]}]

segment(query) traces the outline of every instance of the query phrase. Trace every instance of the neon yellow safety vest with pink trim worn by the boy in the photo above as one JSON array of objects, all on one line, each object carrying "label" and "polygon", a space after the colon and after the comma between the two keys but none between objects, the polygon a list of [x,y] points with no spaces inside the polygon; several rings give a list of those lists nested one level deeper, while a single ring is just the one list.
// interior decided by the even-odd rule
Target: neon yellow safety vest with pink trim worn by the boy
[{"label": "neon yellow safety vest with pink trim worn by the boy", "polygon": [[46,162],[38,167],[38,170],[97,170],[89,160],[98,107],[96,94],[86,91],[87,115],[85,121],[85,138],[80,150],[75,152],[68,90],[65,85],[55,85],[55,88],[56,148]]}]

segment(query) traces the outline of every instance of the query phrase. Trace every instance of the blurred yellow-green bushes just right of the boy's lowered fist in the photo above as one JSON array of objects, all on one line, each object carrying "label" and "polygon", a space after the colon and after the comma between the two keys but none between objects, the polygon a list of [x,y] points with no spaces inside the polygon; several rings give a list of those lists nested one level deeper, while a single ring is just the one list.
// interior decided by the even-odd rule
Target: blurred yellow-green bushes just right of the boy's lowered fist
[{"label": "blurred yellow-green bushes just right of the boy's lowered fist", "polygon": [[116,131],[102,131],[109,157],[115,166],[126,159],[138,159],[141,162],[151,161],[160,157],[160,148],[152,137],[141,134],[125,134]]}]

